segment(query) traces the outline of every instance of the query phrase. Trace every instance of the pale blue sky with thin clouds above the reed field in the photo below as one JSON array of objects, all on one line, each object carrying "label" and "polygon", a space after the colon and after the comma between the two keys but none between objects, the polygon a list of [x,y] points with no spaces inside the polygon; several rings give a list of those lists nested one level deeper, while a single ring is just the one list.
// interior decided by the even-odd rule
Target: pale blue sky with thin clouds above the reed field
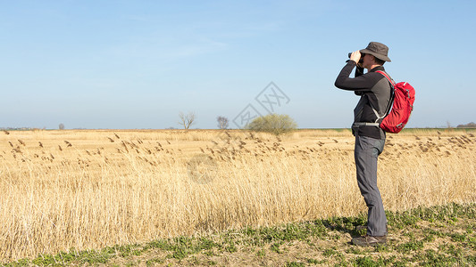
[{"label": "pale blue sky with thin clouds above the reed field", "polygon": [[274,87],[272,111],[299,127],[349,127],[358,97],[334,81],[371,41],[416,89],[408,127],[476,121],[474,1],[0,4],[0,127],[160,129],[194,112],[192,128],[236,128]]}]

